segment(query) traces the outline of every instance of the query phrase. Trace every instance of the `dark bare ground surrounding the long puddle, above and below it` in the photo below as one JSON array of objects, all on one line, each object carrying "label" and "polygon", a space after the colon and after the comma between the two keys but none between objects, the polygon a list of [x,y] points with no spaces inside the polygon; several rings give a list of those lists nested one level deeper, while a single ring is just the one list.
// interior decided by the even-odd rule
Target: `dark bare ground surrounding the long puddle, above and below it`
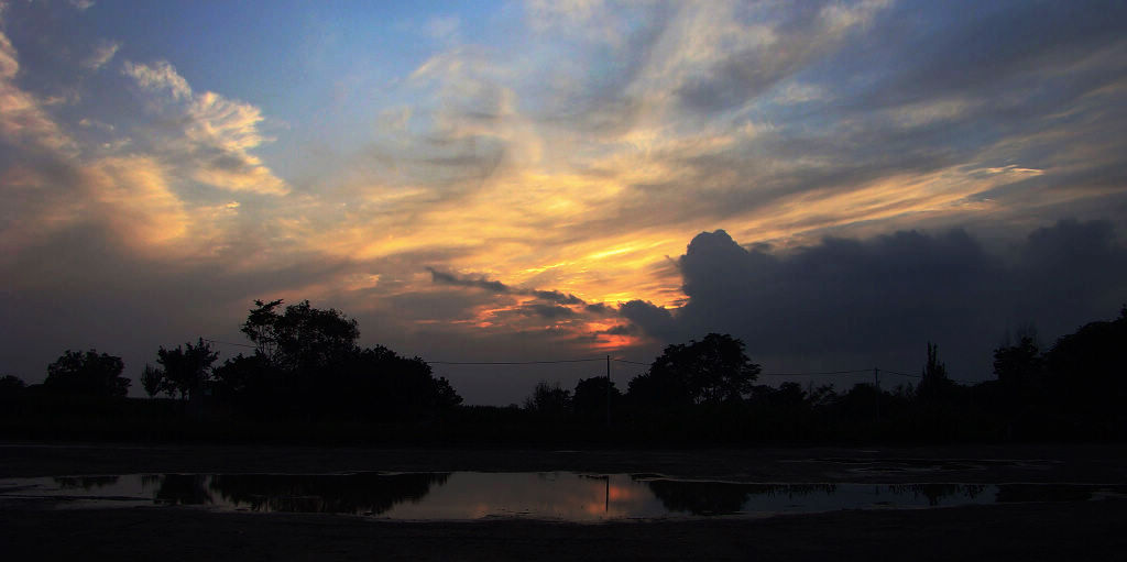
[{"label": "dark bare ground surrounding the long puddle, above and below it", "polygon": [[[1004,462],[1013,460],[1037,462]],[[748,482],[1127,483],[1127,447],[550,452],[0,446],[3,478],[464,470],[658,472]],[[7,560],[1124,560],[1125,521],[1122,499],[597,525],[391,523],[171,507],[59,510],[9,502],[0,508],[0,551]]]}]

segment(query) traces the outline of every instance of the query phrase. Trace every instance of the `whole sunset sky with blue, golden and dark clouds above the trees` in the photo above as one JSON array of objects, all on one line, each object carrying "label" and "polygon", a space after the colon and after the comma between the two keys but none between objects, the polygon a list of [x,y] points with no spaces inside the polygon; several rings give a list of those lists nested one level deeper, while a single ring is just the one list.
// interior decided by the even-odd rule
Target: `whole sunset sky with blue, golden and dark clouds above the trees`
[{"label": "whole sunset sky with blue, golden and dark clouds above the trees", "polygon": [[986,380],[1127,303],[1125,117],[1117,1],[0,0],[0,373],[283,298],[429,360]]}]

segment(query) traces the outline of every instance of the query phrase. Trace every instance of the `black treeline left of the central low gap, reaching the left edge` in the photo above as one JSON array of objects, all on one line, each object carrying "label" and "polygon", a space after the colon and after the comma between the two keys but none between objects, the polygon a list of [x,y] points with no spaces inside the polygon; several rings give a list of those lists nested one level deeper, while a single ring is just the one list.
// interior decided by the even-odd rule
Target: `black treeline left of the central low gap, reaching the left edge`
[{"label": "black treeline left of the central low gap, reaching the left edge", "polygon": [[65,351],[39,385],[5,376],[3,427],[32,437],[319,440],[343,423],[433,421],[462,402],[421,358],[358,346],[356,321],[335,309],[255,305],[241,325],[249,355],[216,364],[204,339],[159,348],[140,376],[153,400],[126,399],[122,359],[96,350]]}]

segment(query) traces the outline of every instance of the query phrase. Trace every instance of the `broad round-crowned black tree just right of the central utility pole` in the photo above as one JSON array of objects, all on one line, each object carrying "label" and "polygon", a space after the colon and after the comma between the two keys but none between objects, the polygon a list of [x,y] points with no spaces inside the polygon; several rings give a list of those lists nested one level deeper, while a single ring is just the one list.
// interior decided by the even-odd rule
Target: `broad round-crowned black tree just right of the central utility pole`
[{"label": "broad round-crowned black tree just right of the central utility pole", "polygon": [[702,404],[740,401],[752,391],[760,366],[744,353],[744,342],[709,333],[701,341],[672,345],[630,381],[630,396],[650,404]]}]

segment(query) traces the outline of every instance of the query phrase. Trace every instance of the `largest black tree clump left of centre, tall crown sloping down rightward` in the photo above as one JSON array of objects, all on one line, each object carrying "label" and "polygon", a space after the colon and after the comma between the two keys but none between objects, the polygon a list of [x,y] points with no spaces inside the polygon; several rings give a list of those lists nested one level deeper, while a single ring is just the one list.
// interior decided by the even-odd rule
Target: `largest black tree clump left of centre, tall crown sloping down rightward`
[{"label": "largest black tree clump left of centre, tall crown sloping down rightward", "polygon": [[242,332],[255,355],[214,371],[220,400],[258,414],[366,420],[433,417],[462,402],[419,357],[383,346],[360,348],[355,320],[309,301],[255,301]]}]

